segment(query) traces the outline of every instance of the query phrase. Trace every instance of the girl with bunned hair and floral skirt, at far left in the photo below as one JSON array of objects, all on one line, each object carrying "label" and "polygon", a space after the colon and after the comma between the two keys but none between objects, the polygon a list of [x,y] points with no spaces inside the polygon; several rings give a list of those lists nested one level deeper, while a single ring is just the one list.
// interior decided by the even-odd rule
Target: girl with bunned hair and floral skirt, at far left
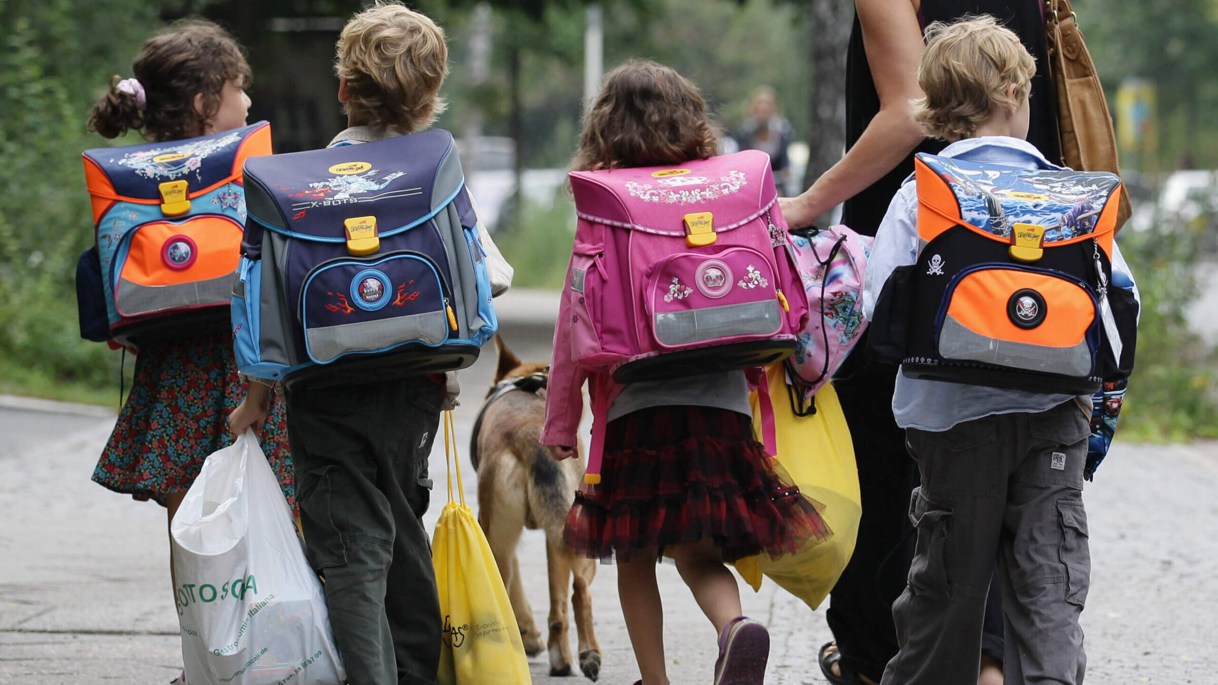
[{"label": "girl with bunned hair and floral skirt, at far left", "polygon": [[[114,77],[94,105],[89,130],[105,138],[136,130],[163,143],[245,126],[250,65],[236,41],[214,23],[173,24],[144,44],[132,68],[134,78]],[[135,500],[156,501],[172,522],[203,460],[233,442],[225,418],[241,395],[231,336],[224,328],[140,346],[132,391],[93,479]],[[291,503],[292,466],[281,402],[268,405],[261,439]]]}]

